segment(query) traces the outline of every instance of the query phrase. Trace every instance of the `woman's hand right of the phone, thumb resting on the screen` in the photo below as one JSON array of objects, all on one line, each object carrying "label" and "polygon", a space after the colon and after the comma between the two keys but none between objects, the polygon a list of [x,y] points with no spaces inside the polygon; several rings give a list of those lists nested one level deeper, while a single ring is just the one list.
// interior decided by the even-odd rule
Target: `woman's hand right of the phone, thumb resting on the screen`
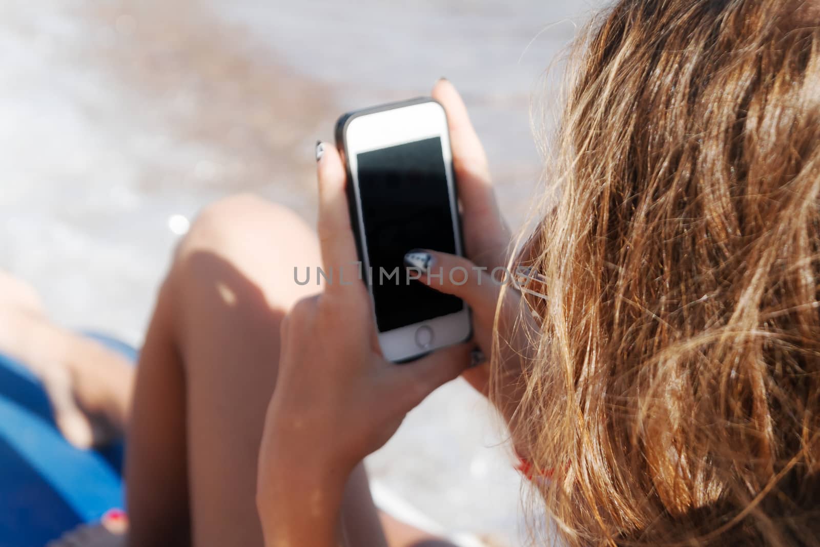
[{"label": "woman's hand right of the phone, thumb resting on the screen", "polygon": [[[430,258],[421,262],[426,262],[435,276],[428,278],[422,275],[418,282],[467,302],[472,311],[474,343],[487,358],[493,350],[494,329],[498,329],[499,353],[494,358],[500,381],[494,403],[512,426],[516,402],[520,400],[518,390],[522,389],[519,378],[529,345],[528,335],[532,335],[538,326],[533,317],[526,313],[526,304],[522,305],[521,294],[517,290],[503,291],[503,302],[499,305],[502,282],[511,283],[509,275],[517,275],[517,271],[515,268],[512,272],[503,270],[500,277],[506,279],[494,277],[492,272],[496,267],[507,267],[509,253],[512,252],[512,236],[499,212],[487,158],[473,130],[467,108],[453,84],[447,80],[435,84],[433,98],[447,112],[453,166],[462,203],[467,258],[424,251]],[[449,276],[450,271],[455,271],[453,277]],[[459,271],[467,271],[466,278]],[[489,362],[468,369],[462,376],[476,390],[488,394]],[[519,449],[519,452],[522,451]]]}]

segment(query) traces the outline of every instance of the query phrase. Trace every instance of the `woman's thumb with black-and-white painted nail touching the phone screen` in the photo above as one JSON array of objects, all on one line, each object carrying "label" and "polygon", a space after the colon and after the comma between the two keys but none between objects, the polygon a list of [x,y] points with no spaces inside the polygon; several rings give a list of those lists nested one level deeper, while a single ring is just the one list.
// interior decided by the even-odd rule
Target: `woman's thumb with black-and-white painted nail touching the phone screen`
[{"label": "woman's thumb with black-and-white painted nail touching the phone screen", "polygon": [[444,294],[453,294],[467,302],[474,311],[495,312],[499,282],[486,267],[476,266],[467,258],[428,249],[413,249],[404,255],[411,280],[424,283]]}]

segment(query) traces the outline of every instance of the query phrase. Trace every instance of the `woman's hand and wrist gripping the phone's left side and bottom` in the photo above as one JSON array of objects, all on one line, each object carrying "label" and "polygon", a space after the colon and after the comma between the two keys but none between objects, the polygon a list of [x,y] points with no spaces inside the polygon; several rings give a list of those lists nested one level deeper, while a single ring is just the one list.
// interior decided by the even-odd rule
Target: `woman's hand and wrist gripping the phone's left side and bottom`
[{"label": "woman's hand and wrist gripping the phone's left side and bottom", "polygon": [[282,323],[257,484],[268,545],[338,545],[339,506],[353,467],[427,394],[462,372],[470,349],[453,346],[402,367],[385,360],[370,296],[358,280],[335,148],[325,148],[318,179],[321,256],[333,279]]}]

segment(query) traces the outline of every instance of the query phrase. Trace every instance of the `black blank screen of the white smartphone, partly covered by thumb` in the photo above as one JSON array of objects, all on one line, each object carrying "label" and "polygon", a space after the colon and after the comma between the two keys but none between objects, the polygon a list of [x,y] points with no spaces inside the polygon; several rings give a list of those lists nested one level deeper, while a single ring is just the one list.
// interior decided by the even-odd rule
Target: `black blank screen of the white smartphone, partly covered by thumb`
[{"label": "black blank screen of the white smartphone, partly covered by thumb", "polygon": [[404,253],[414,248],[456,252],[441,139],[360,153],[357,162],[379,331],[461,311],[461,299],[408,280],[404,267]]}]

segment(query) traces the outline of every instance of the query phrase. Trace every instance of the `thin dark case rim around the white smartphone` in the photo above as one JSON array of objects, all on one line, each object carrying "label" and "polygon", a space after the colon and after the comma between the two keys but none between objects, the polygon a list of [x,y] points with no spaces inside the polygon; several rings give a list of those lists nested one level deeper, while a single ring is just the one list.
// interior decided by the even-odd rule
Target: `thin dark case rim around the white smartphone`
[{"label": "thin dark case rim around the white smartphone", "polygon": [[[417,98],[408,99],[406,101],[399,101],[397,103],[386,103],[386,104],[378,105],[376,107],[364,108],[362,110],[357,110],[357,111],[354,111],[354,112],[348,112],[346,114],[343,114],[342,116],[339,116],[339,120],[336,121],[336,129],[335,129],[336,148],[339,149],[339,153],[341,154],[342,159],[344,160],[344,170],[347,173],[347,181],[345,182],[344,189],[345,189],[345,193],[347,194],[347,197],[348,197],[348,211],[350,212],[350,227],[353,229],[353,236],[354,236],[354,239],[356,239],[356,252],[358,253],[358,259],[359,259],[360,262],[362,262],[362,265],[365,263],[364,254],[362,253],[362,238],[364,237],[364,235],[359,230],[360,222],[359,222],[359,215],[358,215],[358,207],[356,206],[357,205],[357,203],[356,203],[356,191],[355,191],[355,189],[353,189],[353,172],[350,170],[350,162],[348,162],[348,143],[347,143],[347,138],[346,138],[348,125],[350,124],[351,121],[355,120],[359,116],[367,116],[367,115],[370,115],[370,114],[375,114],[376,112],[384,112],[385,110],[395,110],[397,108],[410,107],[410,106],[415,105],[415,104],[423,104],[423,103],[437,103],[437,104],[439,104],[440,107],[442,107],[442,110],[444,110],[444,107],[441,105],[441,103],[436,101],[434,98],[431,98],[431,97],[417,97]],[[446,111],[444,111],[444,116],[445,117],[447,116]],[[448,127],[448,131],[449,131],[449,127]],[[452,145],[451,145],[450,173],[452,173],[452,175],[453,175],[453,196],[456,199],[456,215],[458,217],[456,219],[456,221],[458,222],[458,234],[456,236],[458,237],[459,244],[461,244],[462,254],[466,255],[467,254],[467,248],[464,246],[464,227],[463,227],[463,223],[462,223],[461,209],[459,207],[459,200],[458,200],[458,180],[456,179],[456,171],[455,171],[455,166],[453,166],[452,157],[453,157],[453,153],[452,153]],[[365,276],[362,276],[362,280],[365,283],[367,283],[367,280],[365,279]],[[467,340],[470,340],[472,338],[472,321],[471,321],[472,312],[471,312],[470,307],[467,306],[466,302],[464,303],[464,308],[467,309],[467,320],[470,321],[470,330],[467,332],[467,337],[465,337],[464,340],[461,340],[461,342],[466,342]],[[456,344],[458,344],[458,342]],[[414,358],[409,358],[409,359],[404,359],[402,361],[397,361],[397,363],[416,361],[417,359],[420,359],[420,358],[424,357],[425,355],[427,355],[427,353],[423,353],[423,354],[421,354],[417,357],[414,357]]]}]

